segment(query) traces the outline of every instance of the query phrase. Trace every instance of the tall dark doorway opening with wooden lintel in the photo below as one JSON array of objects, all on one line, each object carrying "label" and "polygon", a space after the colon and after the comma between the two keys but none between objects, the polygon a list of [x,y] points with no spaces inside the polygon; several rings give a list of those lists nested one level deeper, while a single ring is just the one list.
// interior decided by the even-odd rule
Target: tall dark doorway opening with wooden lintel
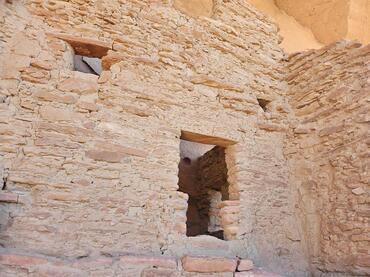
[{"label": "tall dark doorway opening with wooden lintel", "polygon": [[[180,141],[179,191],[188,194],[186,235],[225,237],[230,202],[225,150],[235,142],[189,132]],[[226,203],[226,204],[225,204]],[[230,225],[230,224],[229,224]]]}]

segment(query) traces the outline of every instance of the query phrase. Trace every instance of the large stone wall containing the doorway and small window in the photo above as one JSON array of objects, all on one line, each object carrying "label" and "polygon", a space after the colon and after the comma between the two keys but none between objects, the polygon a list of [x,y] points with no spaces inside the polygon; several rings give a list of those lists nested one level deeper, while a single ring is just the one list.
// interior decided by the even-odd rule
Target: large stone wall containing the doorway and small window
[{"label": "large stone wall containing the doorway and small window", "polygon": [[[0,163],[16,199],[0,204],[0,244],[67,260],[249,256],[304,276],[277,28],[245,1],[214,1],[211,18],[172,4],[0,2]],[[102,57],[101,76],[73,71],[74,51]],[[186,237],[181,130],[237,142],[225,150],[236,240]]]}]

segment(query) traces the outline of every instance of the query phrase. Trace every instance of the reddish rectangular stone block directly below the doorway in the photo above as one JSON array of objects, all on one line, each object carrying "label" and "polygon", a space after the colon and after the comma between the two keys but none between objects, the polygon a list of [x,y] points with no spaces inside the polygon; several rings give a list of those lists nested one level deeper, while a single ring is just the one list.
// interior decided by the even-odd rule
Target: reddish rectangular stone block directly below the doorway
[{"label": "reddish rectangular stone block directly below the doorway", "polygon": [[182,267],[188,272],[233,272],[237,260],[222,257],[184,256],[181,259]]}]

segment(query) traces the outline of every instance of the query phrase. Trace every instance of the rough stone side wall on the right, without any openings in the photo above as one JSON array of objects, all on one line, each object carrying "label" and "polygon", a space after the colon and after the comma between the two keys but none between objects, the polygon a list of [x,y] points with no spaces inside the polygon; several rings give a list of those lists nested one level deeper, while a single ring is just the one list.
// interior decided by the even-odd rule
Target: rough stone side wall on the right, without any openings
[{"label": "rough stone side wall on the right, without any openings", "polygon": [[369,45],[345,41],[289,58],[285,152],[318,276],[370,272],[369,61]]}]

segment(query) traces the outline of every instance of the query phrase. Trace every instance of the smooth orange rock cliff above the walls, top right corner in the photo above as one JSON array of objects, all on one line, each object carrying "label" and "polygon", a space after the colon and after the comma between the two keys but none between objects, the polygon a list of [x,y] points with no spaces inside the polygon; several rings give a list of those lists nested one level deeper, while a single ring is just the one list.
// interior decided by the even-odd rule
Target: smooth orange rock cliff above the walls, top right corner
[{"label": "smooth orange rock cliff above the walls, top right corner", "polygon": [[368,0],[248,0],[279,25],[288,53],[318,49],[340,39],[370,43]]}]

